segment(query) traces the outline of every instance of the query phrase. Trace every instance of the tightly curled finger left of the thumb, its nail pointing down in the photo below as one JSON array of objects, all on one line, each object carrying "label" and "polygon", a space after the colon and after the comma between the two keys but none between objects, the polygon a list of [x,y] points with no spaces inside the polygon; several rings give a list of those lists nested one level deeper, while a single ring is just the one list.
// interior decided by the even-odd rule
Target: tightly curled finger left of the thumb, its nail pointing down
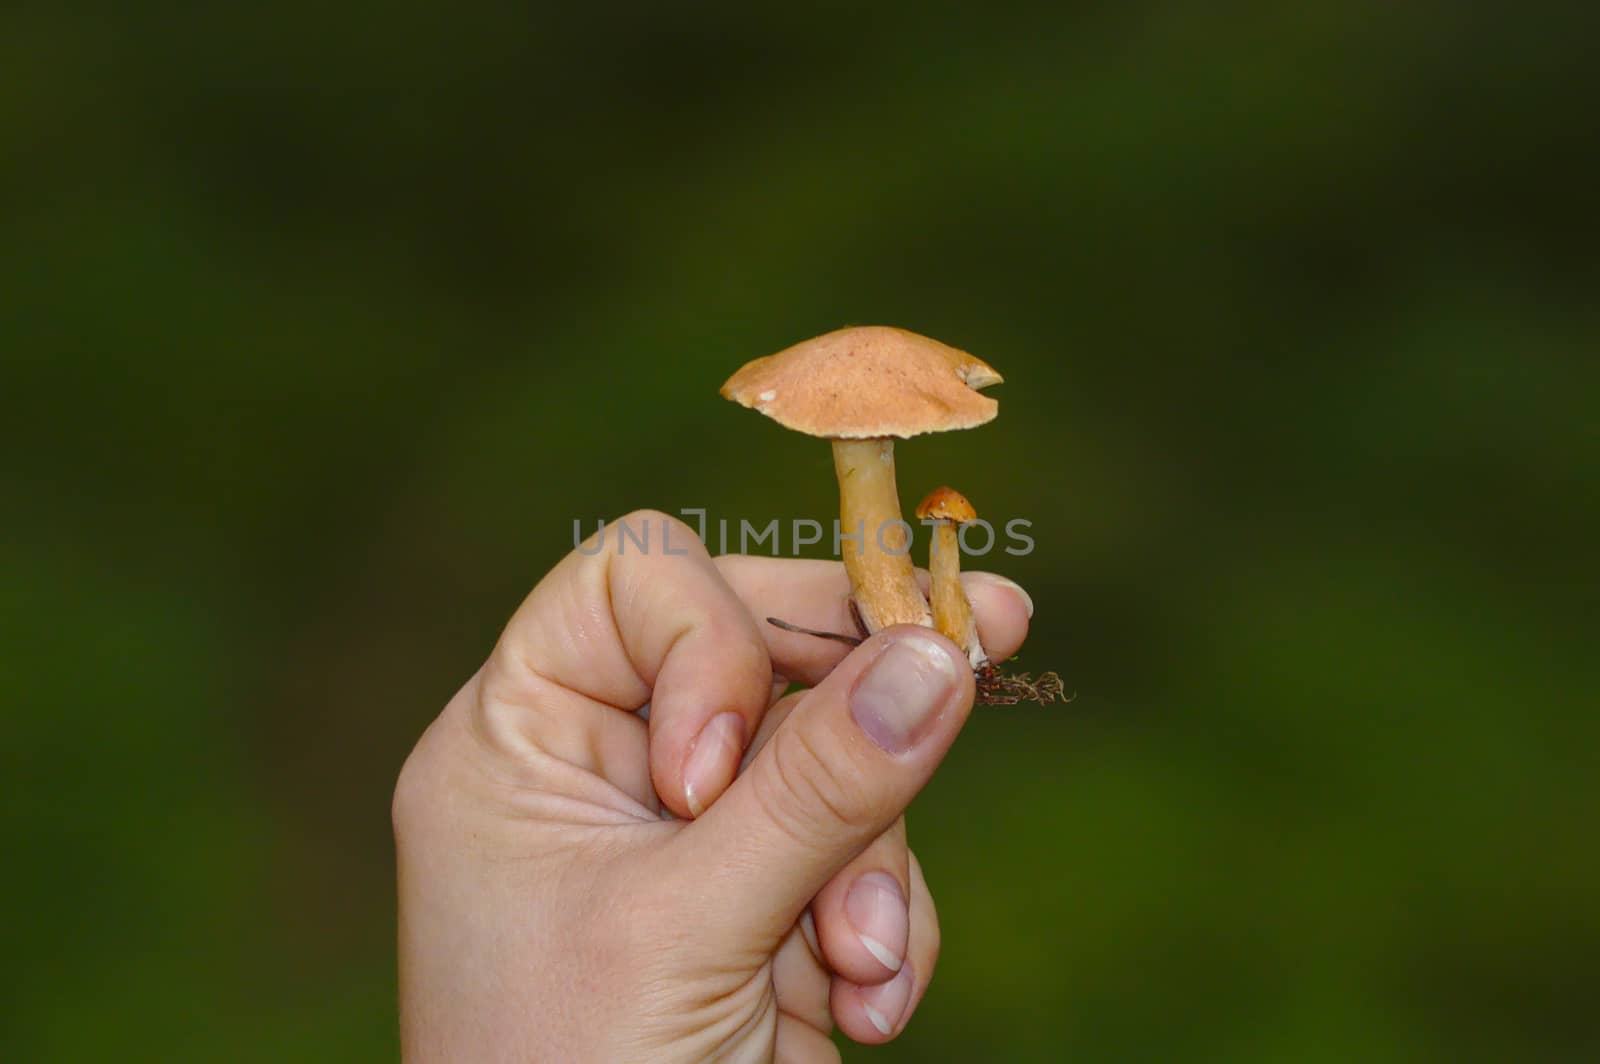
[{"label": "tightly curled finger left of the thumb, its nail pointing down", "polygon": [[674,813],[693,816],[733,778],[766,710],[771,666],[694,531],[640,510],[539,581],[506,626],[483,688],[501,734],[613,782],[640,782],[646,747],[632,710],[648,701],[650,782]]}]

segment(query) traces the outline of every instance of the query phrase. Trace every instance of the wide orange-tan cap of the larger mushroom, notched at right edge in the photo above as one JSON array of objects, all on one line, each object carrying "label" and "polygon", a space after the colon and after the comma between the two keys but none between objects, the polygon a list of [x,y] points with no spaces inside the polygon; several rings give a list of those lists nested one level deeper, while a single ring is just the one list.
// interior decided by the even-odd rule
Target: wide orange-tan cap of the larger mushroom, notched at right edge
[{"label": "wide orange-tan cap of the larger mushroom, notched at right edge", "polygon": [[1002,376],[936,339],[886,325],[826,333],[749,362],[725,398],[786,429],[830,440],[914,437],[994,421],[1000,403],[976,389]]}]

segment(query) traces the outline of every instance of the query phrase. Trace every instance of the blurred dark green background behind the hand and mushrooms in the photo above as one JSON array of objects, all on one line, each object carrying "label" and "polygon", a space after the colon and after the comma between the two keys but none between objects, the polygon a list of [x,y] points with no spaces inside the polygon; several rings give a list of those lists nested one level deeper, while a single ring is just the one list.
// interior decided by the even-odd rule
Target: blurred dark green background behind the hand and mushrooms
[{"label": "blurred dark green background behind the hand and mushrooms", "polygon": [[1035,523],[846,1059],[1600,1059],[1595,19],[0,13],[8,1061],[397,1050],[389,794],[571,520],[819,517],[904,325]]}]

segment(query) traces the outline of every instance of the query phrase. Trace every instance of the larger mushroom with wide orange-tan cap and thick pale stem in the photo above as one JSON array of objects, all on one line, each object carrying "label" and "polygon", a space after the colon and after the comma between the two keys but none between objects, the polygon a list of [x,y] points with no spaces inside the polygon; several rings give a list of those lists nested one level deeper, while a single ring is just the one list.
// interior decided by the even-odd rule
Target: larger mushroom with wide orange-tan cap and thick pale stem
[{"label": "larger mushroom with wide orange-tan cap and thick pale stem", "polygon": [[976,389],[1000,381],[965,350],[874,325],[757,358],[722,386],[725,398],[786,429],[832,440],[845,571],[869,635],[891,624],[933,626],[894,488],[894,440],[992,421],[1000,405]]}]

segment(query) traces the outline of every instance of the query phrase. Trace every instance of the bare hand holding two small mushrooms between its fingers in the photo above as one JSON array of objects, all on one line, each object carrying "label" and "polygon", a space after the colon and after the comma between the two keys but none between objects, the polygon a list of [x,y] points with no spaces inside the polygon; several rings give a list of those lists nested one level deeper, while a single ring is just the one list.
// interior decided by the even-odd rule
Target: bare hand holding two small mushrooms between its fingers
[{"label": "bare hand holding two small mushrooms between its fingers", "polygon": [[[893,1038],[939,952],[901,814],[971,709],[965,654],[917,627],[854,650],[782,632],[758,619],[853,630],[842,565],[714,560],[670,517],[624,522],[648,547],[610,525],[562,560],[400,773],[406,1059],[837,1061],[835,1022]],[[1026,595],[966,579],[1010,656]],[[778,698],[790,680],[816,686]]]}]

